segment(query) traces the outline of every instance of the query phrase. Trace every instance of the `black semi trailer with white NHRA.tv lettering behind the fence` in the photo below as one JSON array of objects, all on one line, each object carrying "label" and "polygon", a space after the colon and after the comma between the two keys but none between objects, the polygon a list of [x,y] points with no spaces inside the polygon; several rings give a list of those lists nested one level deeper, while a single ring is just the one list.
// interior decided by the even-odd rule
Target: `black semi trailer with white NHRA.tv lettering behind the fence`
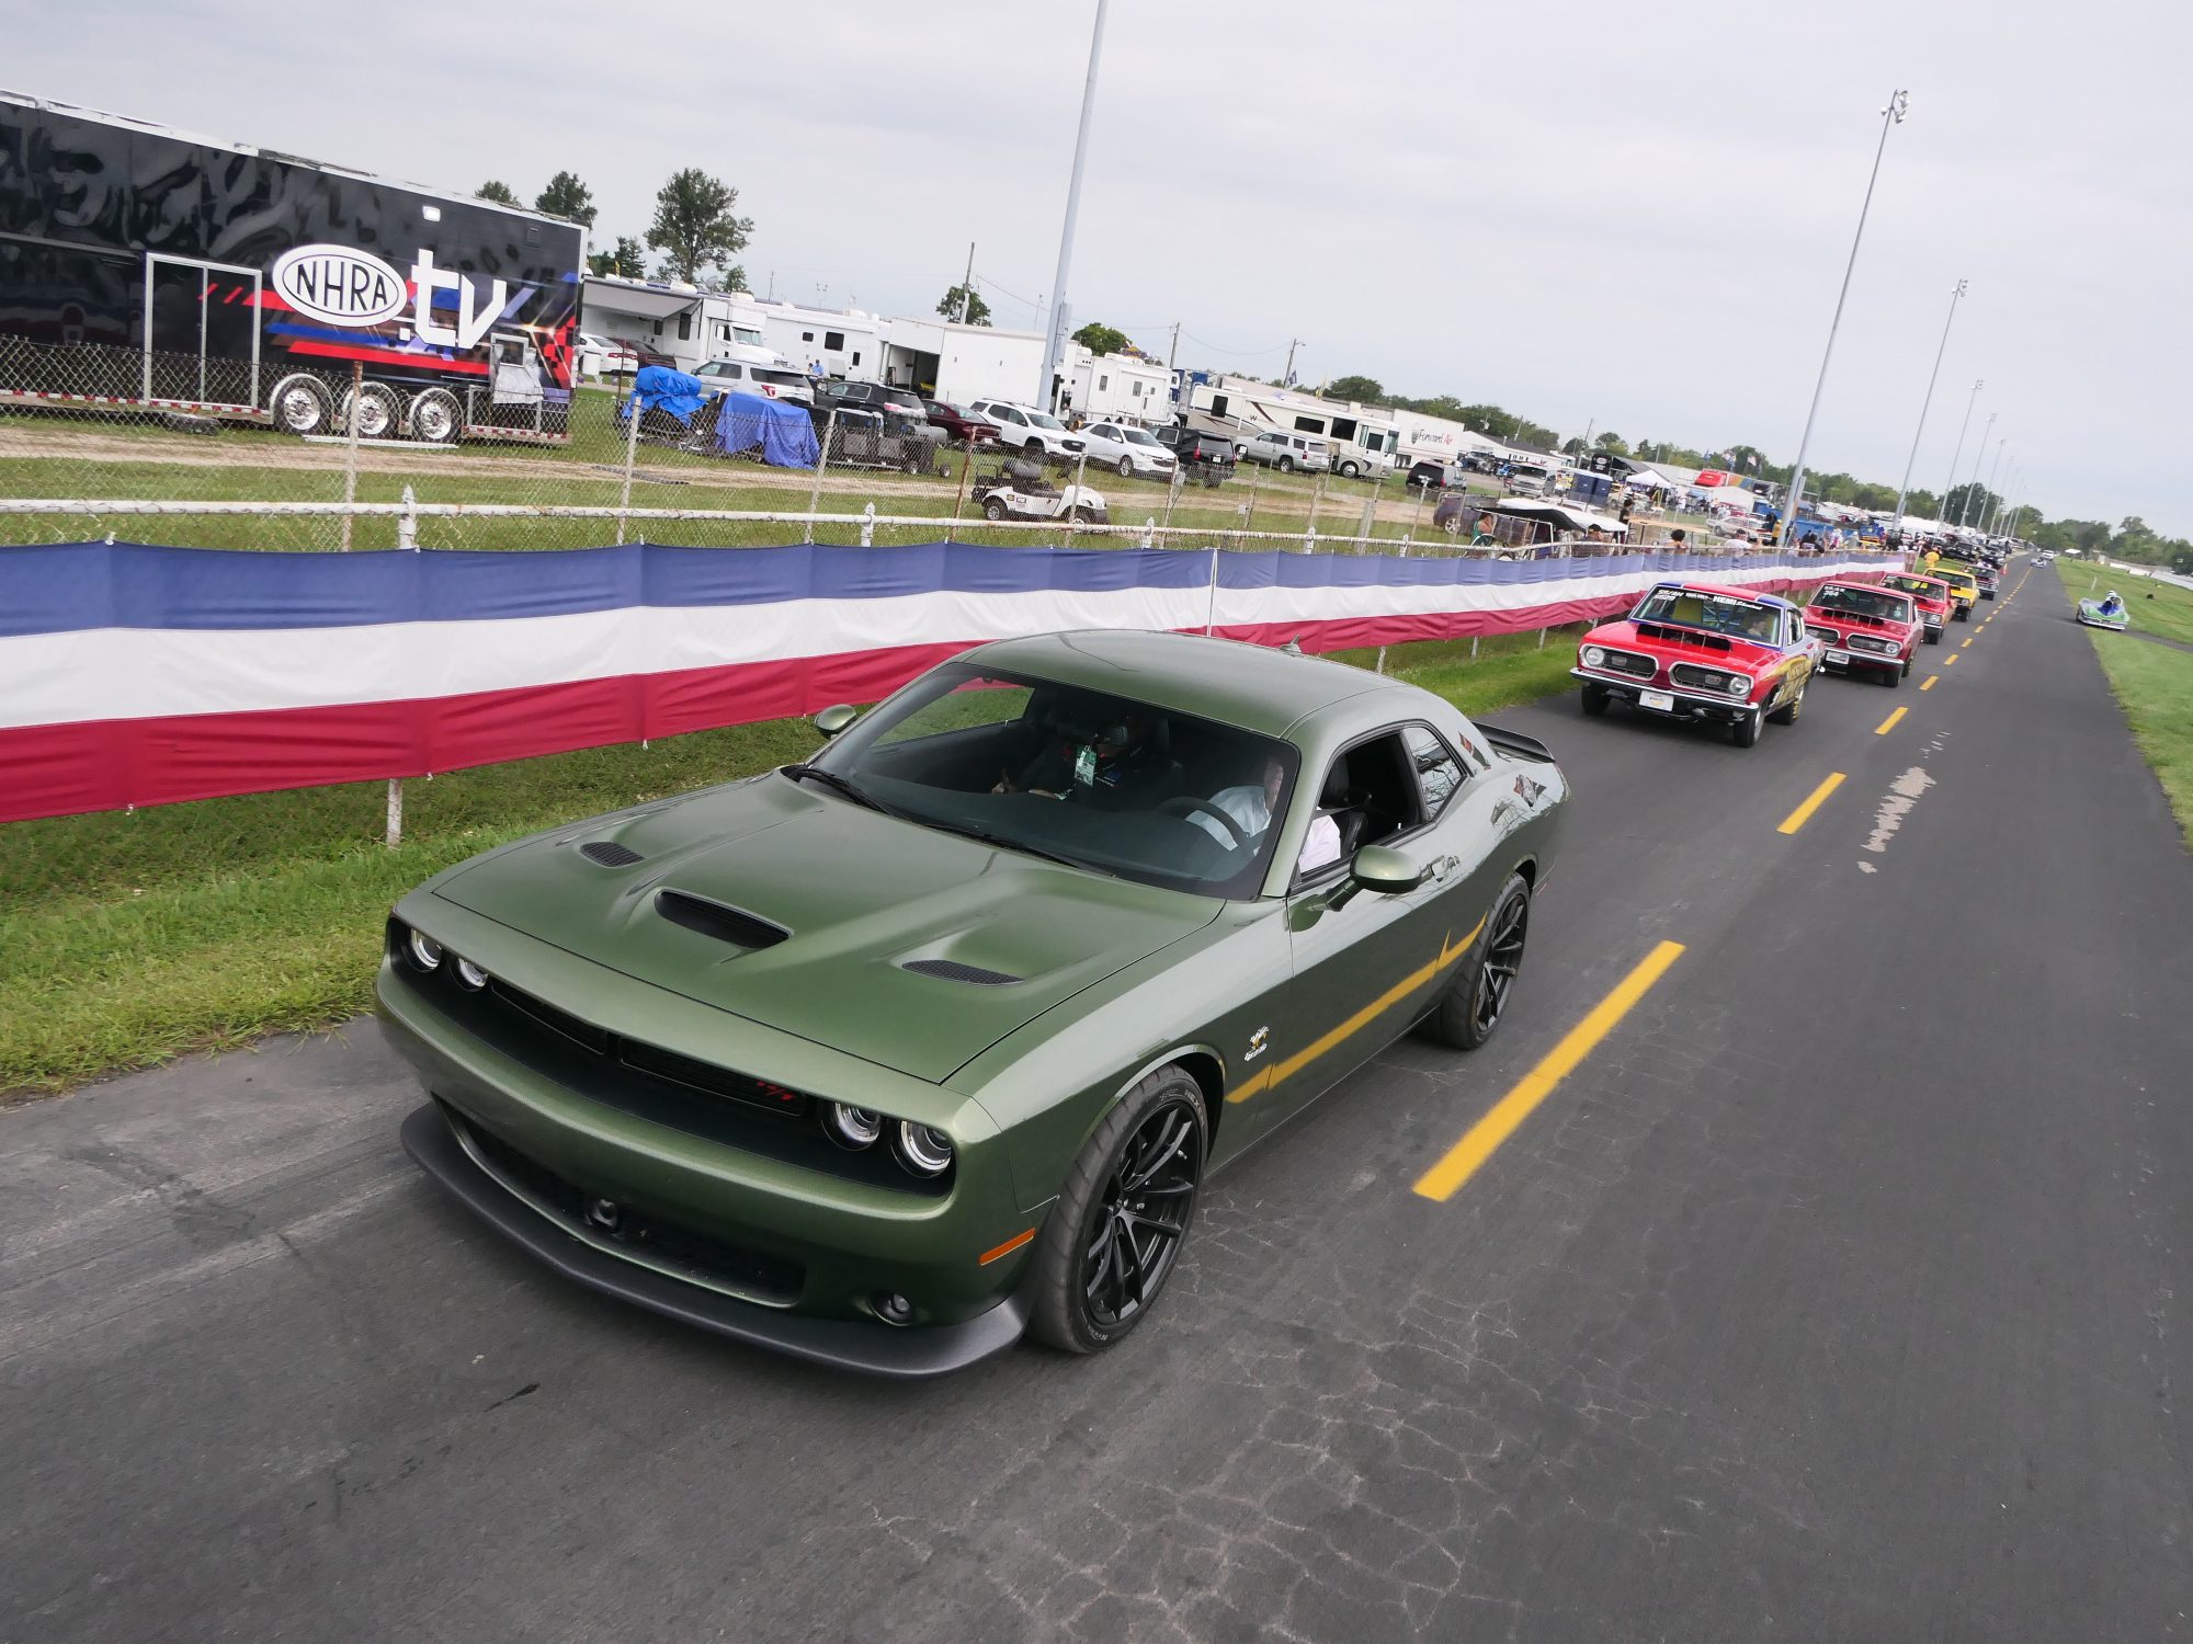
[{"label": "black semi trailer with white NHRA.tv lettering behind the fence", "polygon": [[555,217],[0,92],[0,406],[564,441],[579,250]]}]

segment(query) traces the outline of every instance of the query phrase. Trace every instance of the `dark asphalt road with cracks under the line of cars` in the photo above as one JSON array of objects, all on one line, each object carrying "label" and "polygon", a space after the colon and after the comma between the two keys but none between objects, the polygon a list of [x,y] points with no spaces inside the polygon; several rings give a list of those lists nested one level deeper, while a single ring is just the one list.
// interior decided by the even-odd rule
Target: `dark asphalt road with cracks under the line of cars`
[{"label": "dark asphalt road with cracks under the line of cars", "polygon": [[2055,581],[1982,616],[1752,752],[1507,715],[1579,798],[1500,1039],[1215,1181],[1103,1359],[596,1300],[401,1157],[371,1024],[0,1114],[0,1637],[2186,1635],[2193,859]]}]

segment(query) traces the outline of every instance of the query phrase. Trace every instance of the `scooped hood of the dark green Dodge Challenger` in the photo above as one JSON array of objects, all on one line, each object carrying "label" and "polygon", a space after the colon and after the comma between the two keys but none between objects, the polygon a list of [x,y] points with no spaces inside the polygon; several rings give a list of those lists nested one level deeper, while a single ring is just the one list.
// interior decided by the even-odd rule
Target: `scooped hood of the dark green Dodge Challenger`
[{"label": "scooped hood of the dark green Dodge Challenger", "polygon": [[[590,844],[638,859],[603,866],[581,853]],[[434,894],[932,1083],[1222,905],[899,822],[776,774],[529,840]]]}]

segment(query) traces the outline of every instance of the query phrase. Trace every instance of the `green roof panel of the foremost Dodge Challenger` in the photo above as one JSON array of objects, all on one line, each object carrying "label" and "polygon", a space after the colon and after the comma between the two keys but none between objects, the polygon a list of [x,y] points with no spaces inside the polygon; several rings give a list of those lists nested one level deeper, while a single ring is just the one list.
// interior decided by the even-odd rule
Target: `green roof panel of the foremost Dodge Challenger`
[{"label": "green roof panel of the foremost Dodge Challenger", "polygon": [[1204,633],[1143,629],[1035,633],[976,647],[961,660],[1083,690],[1116,690],[1156,708],[1217,719],[1265,737],[1283,737],[1303,719],[1355,697],[1425,695],[1344,662],[1287,655],[1263,644]]}]

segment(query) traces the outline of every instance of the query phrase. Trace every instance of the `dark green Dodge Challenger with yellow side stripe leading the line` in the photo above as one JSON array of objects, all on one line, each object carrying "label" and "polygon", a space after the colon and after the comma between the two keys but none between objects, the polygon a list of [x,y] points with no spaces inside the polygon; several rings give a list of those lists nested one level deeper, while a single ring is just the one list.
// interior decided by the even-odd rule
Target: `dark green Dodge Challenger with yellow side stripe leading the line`
[{"label": "dark green Dodge Challenger with yellow side stripe leading the line", "polygon": [[599,1291],[919,1377],[1143,1322],[1211,1171],[1509,1002],[1529,737],[1178,633],[969,651],[811,765],[489,850],[388,921],[404,1144]]}]

